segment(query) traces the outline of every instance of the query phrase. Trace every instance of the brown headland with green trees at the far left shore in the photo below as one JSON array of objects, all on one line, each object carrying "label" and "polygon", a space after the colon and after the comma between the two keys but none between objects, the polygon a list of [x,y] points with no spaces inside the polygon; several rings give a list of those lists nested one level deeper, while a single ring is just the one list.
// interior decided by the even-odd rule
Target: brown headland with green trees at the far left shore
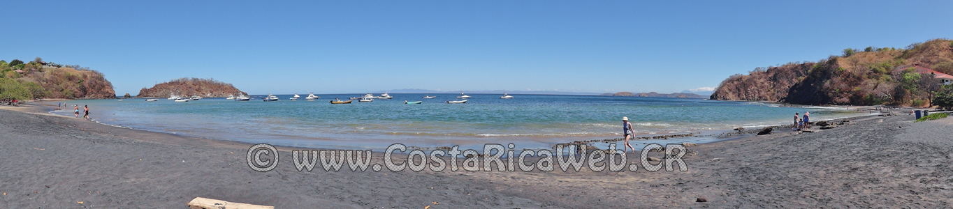
[{"label": "brown headland with green trees at the far left shore", "polygon": [[59,65],[37,57],[29,63],[0,60],[0,101],[115,98],[112,83],[89,67]]}]

